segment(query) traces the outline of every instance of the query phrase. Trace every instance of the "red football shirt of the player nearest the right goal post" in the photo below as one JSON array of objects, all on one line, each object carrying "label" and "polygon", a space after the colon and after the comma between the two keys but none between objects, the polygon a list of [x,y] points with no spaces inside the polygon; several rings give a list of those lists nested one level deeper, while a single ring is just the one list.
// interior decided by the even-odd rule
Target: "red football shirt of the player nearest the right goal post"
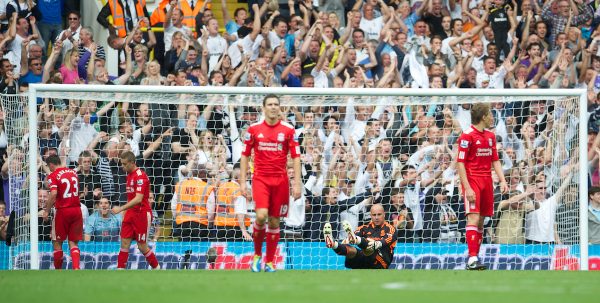
[{"label": "red football shirt of the player nearest the right goal post", "polygon": [[458,162],[465,164],[467,176],[489,177],[492,175],[492,162],[498,160],[496,135],[484,130],[471,128],[458,138]]}]

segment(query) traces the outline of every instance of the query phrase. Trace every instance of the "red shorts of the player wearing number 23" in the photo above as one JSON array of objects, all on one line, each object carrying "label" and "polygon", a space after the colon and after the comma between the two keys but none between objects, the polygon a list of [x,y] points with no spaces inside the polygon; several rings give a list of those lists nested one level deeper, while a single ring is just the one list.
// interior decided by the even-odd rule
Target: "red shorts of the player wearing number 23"
[{"label": "red shorts of the player wearing number 23", "polygon": [[52,220],[53,241],[81,241],[83,240],[83,216],[80,207],[66,207],[56,210]]}]

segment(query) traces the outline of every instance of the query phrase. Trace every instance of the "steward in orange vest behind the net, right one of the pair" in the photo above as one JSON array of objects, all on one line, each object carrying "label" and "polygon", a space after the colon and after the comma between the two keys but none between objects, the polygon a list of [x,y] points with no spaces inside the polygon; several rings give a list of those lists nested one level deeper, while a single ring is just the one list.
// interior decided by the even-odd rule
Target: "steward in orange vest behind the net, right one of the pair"
[{"label": "steward in orange vest behind the net, right one of the pair", "polygon": [[232,171],[232,180],[218,185],[214,221],[216,240],[250,239],[247,232],[250,218],[246,216],[246,197],[240,191],[240,184],[235,181],[239,178],[239,171],[239,163],[236,163]]}]

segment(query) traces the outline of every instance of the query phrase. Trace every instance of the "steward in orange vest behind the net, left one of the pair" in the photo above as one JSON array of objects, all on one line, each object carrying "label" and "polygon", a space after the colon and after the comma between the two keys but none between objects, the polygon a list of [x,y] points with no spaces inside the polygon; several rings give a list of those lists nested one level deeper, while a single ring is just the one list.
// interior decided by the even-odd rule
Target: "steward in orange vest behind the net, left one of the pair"
[{"label": "steward in orange vest behind the net, left one of the pair", "polygon": [[175,218],[173,236],[181,240],[200,241],[208,237],[208,227],[214,220],[215,193],[213,186],[199,178],[206,175],[203,165],[198,165],[192,172],[194,177],[175,185],[171,201]]}]

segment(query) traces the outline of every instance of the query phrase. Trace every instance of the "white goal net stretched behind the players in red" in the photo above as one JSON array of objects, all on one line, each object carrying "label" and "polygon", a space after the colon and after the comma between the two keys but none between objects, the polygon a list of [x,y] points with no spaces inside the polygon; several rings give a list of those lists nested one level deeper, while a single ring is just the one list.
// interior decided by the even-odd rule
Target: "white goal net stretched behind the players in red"
[{"label": "white goal net stretched behind the players in red", "polygon": [[[249,268],[254,203],[240,199],[238,163],[270,93],[299,138],[303,184],[281,221],[277,268],[344,268],[325,247],[323,225],[341,241],[341,222],[369,223],[376,203],[397,228],[391,268],[464,268],[457,139],[470,128],[471,105],[485,102],[510,190],[501,193],[493,174],[480,260],[492,269],[587,269],[585,91],[96,85],[32,85],[28,98],[2,98],[3,177],[16,215],[4,266],[53,267],[52,215],[43,221],[39,210],[48,196],[44,160],[58,154],[79,176],[82,268],[116,267],[122,218],[110,209],[126,202],[118,159],[131,150],[152,185],[147,241],[162,267]],[[148,268],[135,244],[128,268]]]}]

